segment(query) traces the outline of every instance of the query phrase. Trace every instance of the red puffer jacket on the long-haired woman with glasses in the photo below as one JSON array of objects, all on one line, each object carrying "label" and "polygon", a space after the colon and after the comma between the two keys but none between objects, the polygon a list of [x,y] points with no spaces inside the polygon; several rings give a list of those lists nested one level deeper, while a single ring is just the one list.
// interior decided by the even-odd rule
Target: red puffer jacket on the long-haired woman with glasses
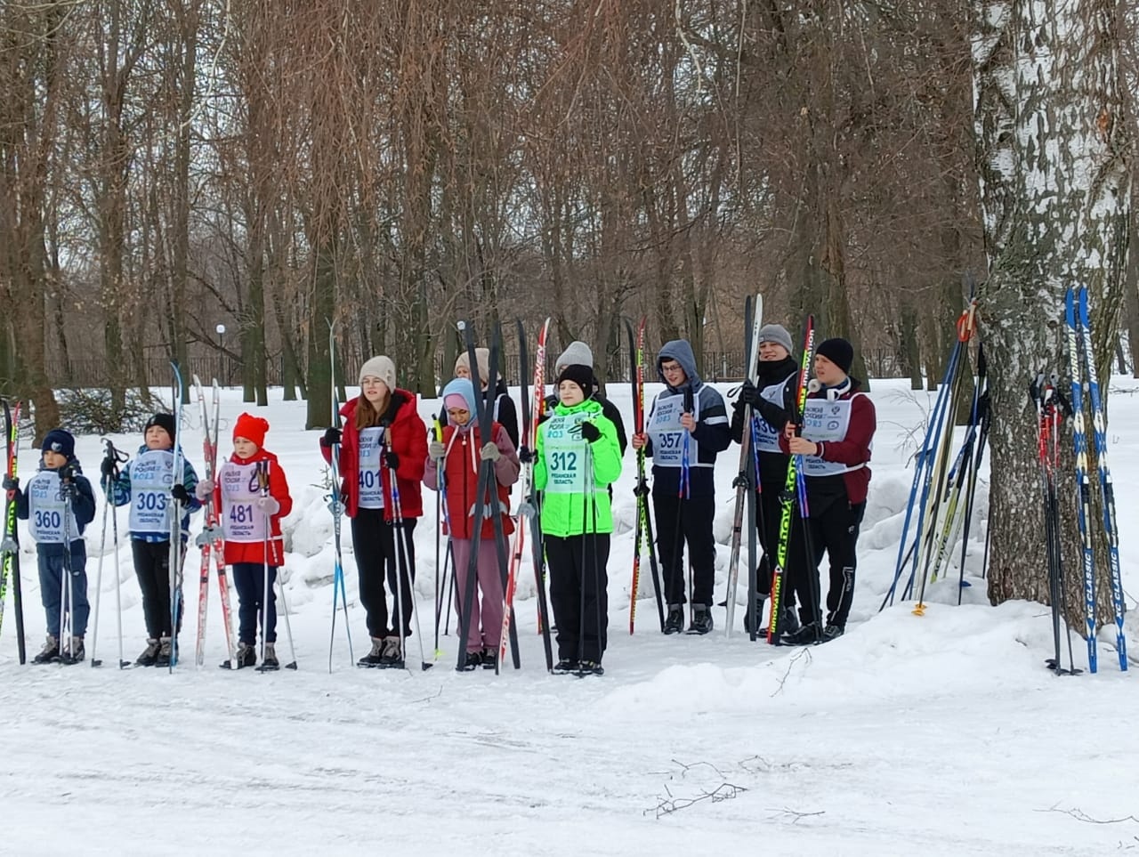
[{"label": "red puffer jacket on the long-haired woman with glasses", "polygon": [[[404,517],[421,517],[424,514],[423,492],[419,480],[424,478],[424,462],[427,460],[427,426],[419,418],[416,408],[416,394],[407,390],[392,393],[395,405],[395,416],[387,426],[384,443],[400,459],[395,470],[395,484],[400,492],[400,511]],[[341,435],[341,497],[349,517],[354,517],[360,501],[360,430],[355,427],[355,410],[360,397],[350,399],[341,408],[344,417]],[[331,450],[323,443],[320,452],[326,462],[331,462]],[[384,520],[392,520],[392,484],[387,467],[379,468],[379,478],[384,484]]]}]

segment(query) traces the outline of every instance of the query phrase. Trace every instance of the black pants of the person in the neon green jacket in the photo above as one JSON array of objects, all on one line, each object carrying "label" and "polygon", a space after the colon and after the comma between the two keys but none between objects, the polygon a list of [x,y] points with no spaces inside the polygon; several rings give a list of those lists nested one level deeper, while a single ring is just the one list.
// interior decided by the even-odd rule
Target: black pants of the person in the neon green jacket
[{"label": "black pants of the person in the neon green jacket", "polygon": [[601,662],[609,623],[609,533],[546,536],[558,659]]}]

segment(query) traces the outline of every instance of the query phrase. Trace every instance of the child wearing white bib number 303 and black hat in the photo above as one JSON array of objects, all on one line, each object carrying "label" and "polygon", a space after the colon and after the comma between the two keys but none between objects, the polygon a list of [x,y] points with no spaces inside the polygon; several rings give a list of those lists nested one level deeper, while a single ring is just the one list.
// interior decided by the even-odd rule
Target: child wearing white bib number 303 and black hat
[{"label": "child wearing white bib number 303 and black hat", "polygon": [[182,627],[181,605],[178,628],[171,627],[167,506],[174,499],[181,509],[183,545],[190,537],[190,514],[202,508],[194,496],[198,484],[194,465],[182,458],[182,479],[180,482],[173,479],[177,431],[172,414],[155,414],[142,428],[142,446],[133,462],[118,471],[115,460],[104,458],[99,467],[103,489],[114,504],[130,504],[126,527],[131,533],[131,556],[142,591],[147,630],[146,648],[134,661],[139,667],[169,667],[174,636]]}]

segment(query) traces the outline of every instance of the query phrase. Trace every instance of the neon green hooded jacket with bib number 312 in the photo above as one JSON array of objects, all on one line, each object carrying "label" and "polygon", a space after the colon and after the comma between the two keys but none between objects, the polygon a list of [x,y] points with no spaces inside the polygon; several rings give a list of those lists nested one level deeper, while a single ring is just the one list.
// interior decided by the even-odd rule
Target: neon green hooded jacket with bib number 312
[{"label": "neon green hooded jacket with bib number 312", "polygon": [[[601,432],[592,443],[581,436],[584,422]],[[621,447],[616,426],[601,414],[601,405],[592,399],[558,405],[554,416],[538,426],[535,451],[534,487],[542,491],[542,532],[563,538],[613,532],[606,487],[621,475]],[[585,472],[587,462],[592,473]]]}]

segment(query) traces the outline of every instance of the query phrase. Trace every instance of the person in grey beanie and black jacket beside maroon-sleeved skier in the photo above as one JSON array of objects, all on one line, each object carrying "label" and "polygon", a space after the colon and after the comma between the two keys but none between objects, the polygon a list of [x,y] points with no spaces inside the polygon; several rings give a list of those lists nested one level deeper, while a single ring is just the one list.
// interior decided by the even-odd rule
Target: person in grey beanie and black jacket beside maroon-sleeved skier
[{"label": "person in grey beanie and black jacket beside maroon-sleeved skier", "polygon": [[[787,481],[789,458],[779,446],[779,435],[795,411],[795,384],[798,377],[798,362],[792,356],[793,343],[786,327],[763,325],[760,328],[759,350],[757,382],[744,382],[731,414],[731,438],[737,443],[741,443],[744,439],[746,408],[749,406],[756,415],[754,425],[749,426],[752,442],[759,455],[760,514],[756,516],[756,529],[763,549],[756,571],[756,621],[762,619],[763,605],[771,597],[771,570],[779,544],[779,516],[782,512],[780,496]],[[787,596],[785,590],[784,614],[779,623],[784,630],[794,631],[798,628],[798,614],[795,611],[794,595]],[[751,611],[744,614],[746,630],[751,630],[749,615]]]}]

